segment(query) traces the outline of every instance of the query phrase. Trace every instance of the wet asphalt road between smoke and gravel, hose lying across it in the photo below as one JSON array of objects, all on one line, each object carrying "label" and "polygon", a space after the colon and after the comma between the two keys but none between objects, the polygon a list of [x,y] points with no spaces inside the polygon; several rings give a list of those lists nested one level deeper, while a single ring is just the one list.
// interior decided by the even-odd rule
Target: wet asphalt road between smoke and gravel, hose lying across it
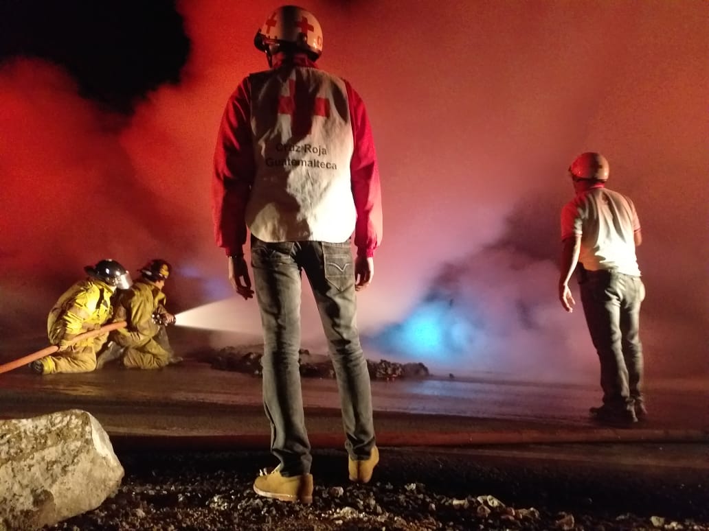
[{"label": "wet asphalt road between smoke and gravel, hose lying across it", "polygon": [[[116,365],[77,375],[39,377],[18,369],[0,375],[0,416],[19,418],[84,409],[111,438],[152,445],[256,447],[269,426],[258,377],[185,362],[159,371]],[[377,439],[389,446],[552,444],[571,442],[708,442],[709,401],[691,385],[647,389],[649,421],[631,429],[597,426],[588,406],[598,389],[530,382],[457,379],[372,382]],[[341,447],[337,387],[303,379],[314,447]]]}]

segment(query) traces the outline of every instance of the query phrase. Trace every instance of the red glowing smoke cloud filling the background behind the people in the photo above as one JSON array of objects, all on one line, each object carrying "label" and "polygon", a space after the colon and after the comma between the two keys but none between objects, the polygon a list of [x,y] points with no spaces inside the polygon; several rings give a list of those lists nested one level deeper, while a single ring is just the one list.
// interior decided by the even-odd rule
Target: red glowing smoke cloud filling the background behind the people
[{"label": "red glowing smoke cloud filling the background behind the people", "polygon": [[[123,124],[77,96],[57,67],[23,59],[0,70],[4,334],[42,333],[82,265],[104,257],[130,269],[172,261],[178,278],[167,291],[177,310],[230,295],[211,236],[213,143],[229,93],[266,67],[252,39],[276,5],[180,4],[192,43],[182,82],[151,93]],[[590,149],[607,156],[610,187],[640,215],[648,372],[707,373],[709,4],[308,8],[325,33],[320,65],[362,94],[379,152],[386,239],[359,298],[363,331],[402,319],[445,264],[462,268],[462,279],[471,265],[487,289],[469,290],[465,304],[484,312],[512,297],[544,320],[530,343],[529,329],[508,316],[497,353],[514,350],[514,360],[533,344],[528,355],[540,365],[576,356],[593,367],[581,312],[566,316],[555,300],[559,210],[572,193],[565,169]],[[502,268],[486,251],[501,246],[516,256]],[[255,302],[238,308],[257,312]],[[475,370],[485,355],[461,365]]]}]

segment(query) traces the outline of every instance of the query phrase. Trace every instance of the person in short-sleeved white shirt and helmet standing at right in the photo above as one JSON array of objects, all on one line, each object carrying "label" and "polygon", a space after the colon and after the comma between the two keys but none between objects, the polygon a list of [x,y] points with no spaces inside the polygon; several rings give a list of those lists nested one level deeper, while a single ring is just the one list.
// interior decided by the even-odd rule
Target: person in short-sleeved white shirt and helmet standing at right
[{"label": "person in short-sleeved white shirt and helmet standing at right", "polygon": [[559,300],[573,312],[569,280],[577,269],[581,303],[601,362],[603,405],[591,415],[607,424],[630,425],[647,416],[642,394],[640,304],[645,287],[635,248],[642,242],[632,201],[605,187],[609,166],[586,152],[569,166],[576,190],[562,209]]}]

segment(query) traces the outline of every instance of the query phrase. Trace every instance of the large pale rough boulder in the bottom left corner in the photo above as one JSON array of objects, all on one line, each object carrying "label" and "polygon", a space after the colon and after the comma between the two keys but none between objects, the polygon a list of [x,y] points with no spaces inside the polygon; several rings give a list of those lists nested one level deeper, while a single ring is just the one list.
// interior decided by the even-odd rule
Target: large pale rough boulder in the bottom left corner
[{"label": "large pale rough boulder in the bottom left corner", "polygon": [[33,530],[94,509],[123,467],[90,413],[0,421],[0,531]]}]

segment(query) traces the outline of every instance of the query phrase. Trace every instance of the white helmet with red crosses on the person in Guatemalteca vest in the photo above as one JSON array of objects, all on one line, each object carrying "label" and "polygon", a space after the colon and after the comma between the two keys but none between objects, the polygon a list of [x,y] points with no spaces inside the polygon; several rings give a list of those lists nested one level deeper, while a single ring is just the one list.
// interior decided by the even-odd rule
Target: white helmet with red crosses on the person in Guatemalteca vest
[{"label": "white helmet with red crosses on the person in Guatemalteca vest", "polygon": [[315,15],[298,6],[281,6],[256,32],[254,45],[262,52],[273,46],[295,47],[308,52],[313,61],[323,53],[323,30]]}]

